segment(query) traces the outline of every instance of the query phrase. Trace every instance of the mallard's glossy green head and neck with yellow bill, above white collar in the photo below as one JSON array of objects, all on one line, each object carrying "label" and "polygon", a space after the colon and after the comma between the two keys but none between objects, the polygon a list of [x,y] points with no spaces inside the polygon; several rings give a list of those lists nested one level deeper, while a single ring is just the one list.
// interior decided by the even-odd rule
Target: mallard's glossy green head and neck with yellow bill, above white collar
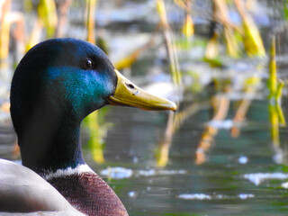
[{"label": "mallard's glossy green head and neck with yellow bill, above white collar", "polygon": [[91,43],[53,39],[30,49],[11,85],[11,116],[23,165],[41,174],[83,164],[80,123],[109,103],[176,109],[175,103],[148,94],[121,76]]}]

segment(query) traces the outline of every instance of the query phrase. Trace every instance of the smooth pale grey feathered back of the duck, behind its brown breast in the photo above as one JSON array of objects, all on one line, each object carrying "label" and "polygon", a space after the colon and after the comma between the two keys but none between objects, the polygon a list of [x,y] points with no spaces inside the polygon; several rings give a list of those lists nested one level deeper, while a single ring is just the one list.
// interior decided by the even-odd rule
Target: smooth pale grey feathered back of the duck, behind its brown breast
[{"label": "smooth pale grey feathered back of the duck, behind its brown breast", "polygon": [[0,174],[0,215],[84,215],[25,166],[0,159]]}]

